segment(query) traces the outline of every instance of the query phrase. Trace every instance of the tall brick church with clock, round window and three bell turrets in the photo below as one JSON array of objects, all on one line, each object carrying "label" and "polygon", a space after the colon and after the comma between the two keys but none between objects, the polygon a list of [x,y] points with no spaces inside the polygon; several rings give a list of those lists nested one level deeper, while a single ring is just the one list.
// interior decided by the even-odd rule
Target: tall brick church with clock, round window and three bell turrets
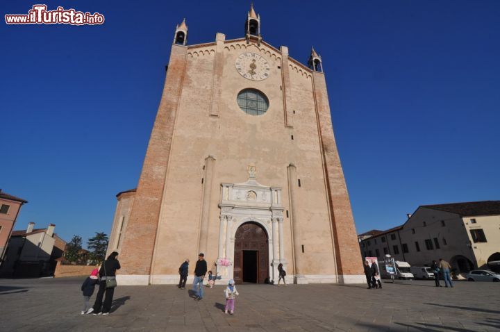
[{"label": "tall brick church with clock, round window and three bell turrets", "polygon": [[118,283],[178,283],[205,254],[222,281],[363,283],[322,59],[244,38],[187,44],[176,27],[138,188],[117,195]]}]

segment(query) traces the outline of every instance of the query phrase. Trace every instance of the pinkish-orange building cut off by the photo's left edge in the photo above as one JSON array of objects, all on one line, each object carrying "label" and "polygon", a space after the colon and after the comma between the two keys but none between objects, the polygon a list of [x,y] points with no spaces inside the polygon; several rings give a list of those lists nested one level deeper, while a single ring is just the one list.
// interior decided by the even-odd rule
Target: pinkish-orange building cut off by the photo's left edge
[{"label": "pinkish-orange building cut off by the photo's left edge", "polygon": [[0,189],[0,266],[7,250],[10,234],[14,229],[17,216],[23,204],[28,203],[22,198],[12,196]]}]

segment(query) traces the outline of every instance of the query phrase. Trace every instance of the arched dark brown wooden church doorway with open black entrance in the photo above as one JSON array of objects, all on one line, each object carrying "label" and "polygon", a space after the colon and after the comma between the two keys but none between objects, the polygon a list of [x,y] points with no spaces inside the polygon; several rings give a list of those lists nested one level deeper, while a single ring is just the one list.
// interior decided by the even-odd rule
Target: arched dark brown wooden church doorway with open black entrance
[{"label": "arched dark brown wooden church doorway with open black entrance", "polygon": [[235,283],[265,283],[269,278],[269,246],[265,229],[255,222],[238,227],[235,234]]}]

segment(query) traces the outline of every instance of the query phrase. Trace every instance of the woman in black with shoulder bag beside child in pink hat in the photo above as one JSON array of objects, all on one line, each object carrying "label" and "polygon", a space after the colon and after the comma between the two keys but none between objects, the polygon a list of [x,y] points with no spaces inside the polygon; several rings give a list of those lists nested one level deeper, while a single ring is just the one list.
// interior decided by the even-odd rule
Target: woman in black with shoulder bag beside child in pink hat
[{"label": "woman in black with shoulder bag beside child in pink hat", "polygon": [[[97,292],[94,306],[87,313],[92,313],[92,315],[109,315],[111,304],[113,303],[113,294],[117,285],[116,270],[121,267],[117,257],[118,253],[113,251],[101,265],[101,269],[99,269],[99,291]],[[105,293],[106,297],[104,297]]]}]

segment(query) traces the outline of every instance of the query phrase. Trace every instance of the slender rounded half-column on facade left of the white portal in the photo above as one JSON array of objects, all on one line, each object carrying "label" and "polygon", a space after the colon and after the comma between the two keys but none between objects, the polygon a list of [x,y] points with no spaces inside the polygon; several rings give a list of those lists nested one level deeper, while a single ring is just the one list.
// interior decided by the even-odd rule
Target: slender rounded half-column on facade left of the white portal
[{"label": "slender rounded half-column on facade left of the white portal", "polygon": [[203,204],[201,205],[201,222],[198,251],[206,253],[208,243],[208,226],[210,224],[210,198],[212,197],[212,182],[215,158],[205,159],[205,176],[203,177]]}]

